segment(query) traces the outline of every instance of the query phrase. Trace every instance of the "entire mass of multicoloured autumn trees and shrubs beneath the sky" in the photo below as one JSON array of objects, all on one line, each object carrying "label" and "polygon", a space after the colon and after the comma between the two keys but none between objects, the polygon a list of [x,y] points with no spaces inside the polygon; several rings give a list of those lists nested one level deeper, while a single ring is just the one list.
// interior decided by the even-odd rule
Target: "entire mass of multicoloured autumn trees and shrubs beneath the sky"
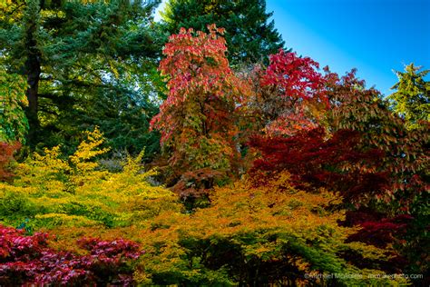
[{"label": "entire mass of multicoloured autumn trees and shrubs beneath the sky", "polygon": [[428,285],[428,71],[385,98],[264,1],[158,3],[0,3],[0,285]]}]

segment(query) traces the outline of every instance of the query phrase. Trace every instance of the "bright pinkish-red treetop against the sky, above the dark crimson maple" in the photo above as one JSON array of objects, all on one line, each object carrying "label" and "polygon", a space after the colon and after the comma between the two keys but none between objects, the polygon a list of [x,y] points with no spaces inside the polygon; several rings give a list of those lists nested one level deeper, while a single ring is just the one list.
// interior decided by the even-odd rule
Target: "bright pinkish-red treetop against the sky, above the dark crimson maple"
[{"label": "bright pinkish-red treetop against the sky, above the dark crimson maple", "polygon": [[269,135],[293,135],[318,126],[328,107],[326,76],[318,62],[282,49],[269,56],[269,66],[250,73],[255,97],[249,101],[252,114]]}]

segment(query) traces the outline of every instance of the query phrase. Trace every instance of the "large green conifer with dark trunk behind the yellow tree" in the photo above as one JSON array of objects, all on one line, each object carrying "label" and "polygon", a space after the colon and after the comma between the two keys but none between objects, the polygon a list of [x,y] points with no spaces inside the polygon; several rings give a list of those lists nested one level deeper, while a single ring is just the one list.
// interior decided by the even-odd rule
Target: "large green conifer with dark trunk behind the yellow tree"
[{"label": "large green conifer with dark trunk behind the yellow tree", "polygon": [[157,112],[151,74],[163,41],[151,17],[160,1],[6,2],[0,65],[27,79],[30,144],[72,143],[95,124],[114,147],[158,142],[147,127]]}]

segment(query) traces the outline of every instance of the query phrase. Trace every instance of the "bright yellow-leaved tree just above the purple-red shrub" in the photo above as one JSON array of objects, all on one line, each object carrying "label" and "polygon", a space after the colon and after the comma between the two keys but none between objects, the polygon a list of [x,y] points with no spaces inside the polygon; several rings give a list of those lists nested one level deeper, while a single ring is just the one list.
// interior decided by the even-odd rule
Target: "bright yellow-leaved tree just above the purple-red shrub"
[{"label": "bright yellow-leaved tree just above the purple-red shrub", "polygon": [[[175,206],[176,198],[143,171],[141,153],[104,170],[97,158],[108,152],[96,128],[68,159],[60,147],[34,153],[16,168],[14,183],[0,183],[0,223],[30,228],[130,226]],[[162,203],[161,203],[162,199]]]}]

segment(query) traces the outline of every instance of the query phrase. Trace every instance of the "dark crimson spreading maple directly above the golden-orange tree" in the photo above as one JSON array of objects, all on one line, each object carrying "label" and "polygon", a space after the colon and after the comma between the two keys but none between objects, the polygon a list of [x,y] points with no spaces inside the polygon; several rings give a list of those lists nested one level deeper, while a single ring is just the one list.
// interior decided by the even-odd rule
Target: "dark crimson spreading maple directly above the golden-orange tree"
[{"label": "dark crimson spreading maple directly above the golden-orange tree", "polygon": [[361,150],[358,143],[357,132],[340,130],[327,139],[322,127],[290,137],[256,137],[250,141],[262,153],[254,163],[254,172],[286,170],[301,189],[331,188],[348,202],[379,194],[388,184],[387,174],[375,170],[384,153]]}]

